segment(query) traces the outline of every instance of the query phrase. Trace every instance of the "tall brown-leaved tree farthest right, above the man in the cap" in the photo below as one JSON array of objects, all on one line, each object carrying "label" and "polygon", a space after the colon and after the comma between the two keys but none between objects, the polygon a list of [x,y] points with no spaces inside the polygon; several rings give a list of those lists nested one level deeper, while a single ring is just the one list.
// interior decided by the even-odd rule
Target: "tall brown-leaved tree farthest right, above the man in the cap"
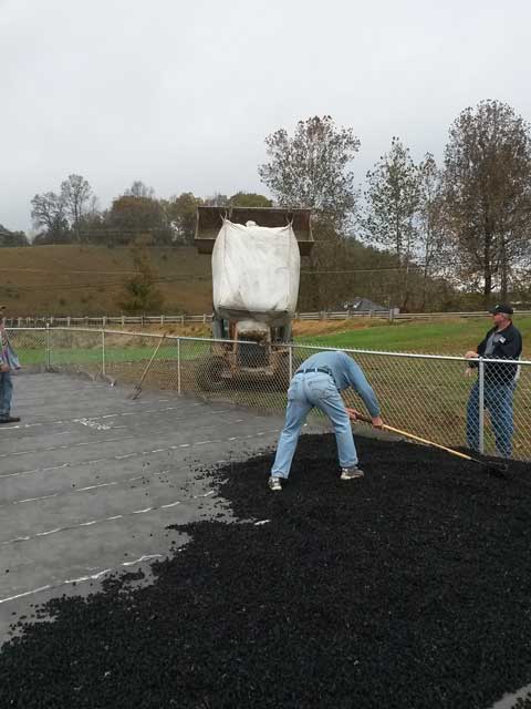
[{"label": "tall brown-leaved tree farthest right, above the man in the cap", "polygon": [[498,276],[507,295],[531,246],[530,126],[510,105],[482,101],[456,119],[445,152],[445,202],[464,276],[480,284],[486,304]]}]

